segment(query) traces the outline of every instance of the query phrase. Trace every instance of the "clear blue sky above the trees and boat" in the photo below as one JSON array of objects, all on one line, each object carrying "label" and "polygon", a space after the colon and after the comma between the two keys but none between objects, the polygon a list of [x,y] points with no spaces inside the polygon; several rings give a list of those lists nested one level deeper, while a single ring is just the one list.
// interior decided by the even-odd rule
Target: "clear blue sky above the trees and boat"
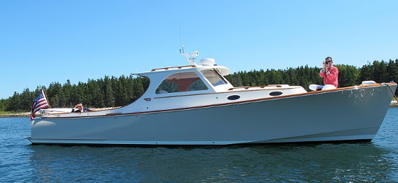
[{"label": "clear blue sky above the trees and boat", "polygon": [[398,58],[398,1],[0,1],[0,99],[188,65],[232,72]]}]

